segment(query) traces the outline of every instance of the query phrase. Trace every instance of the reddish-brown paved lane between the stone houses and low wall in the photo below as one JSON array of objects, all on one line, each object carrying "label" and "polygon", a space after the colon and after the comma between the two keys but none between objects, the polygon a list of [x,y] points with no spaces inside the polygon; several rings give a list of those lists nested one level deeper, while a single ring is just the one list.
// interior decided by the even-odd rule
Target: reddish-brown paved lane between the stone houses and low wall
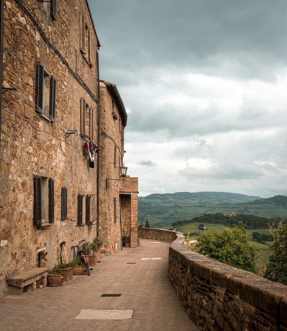
[{"label": "reddish-brown paved lane between the stone houses and low wall", "polygon": [[[102,255],[102,262],[90,276],[74,275],[62,286],[0,299],[0,330],[198,330],[169,283],[169,245],[142,239],[141,247],[123,248],[114,256]],[[82,309],[132,309],[133,316],[121,320],[75,319]]]}]

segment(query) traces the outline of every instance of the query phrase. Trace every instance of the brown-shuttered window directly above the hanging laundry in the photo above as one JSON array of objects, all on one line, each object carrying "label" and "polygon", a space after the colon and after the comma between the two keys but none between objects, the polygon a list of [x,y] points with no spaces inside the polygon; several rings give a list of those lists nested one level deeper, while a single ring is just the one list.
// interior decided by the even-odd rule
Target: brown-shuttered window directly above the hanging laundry
[{"label": "brown-shuttered window directly above the hanging laundry", "polygon": [[81,135],[94,141],[95,138],[95,111],[84,98],[81,98]]}]

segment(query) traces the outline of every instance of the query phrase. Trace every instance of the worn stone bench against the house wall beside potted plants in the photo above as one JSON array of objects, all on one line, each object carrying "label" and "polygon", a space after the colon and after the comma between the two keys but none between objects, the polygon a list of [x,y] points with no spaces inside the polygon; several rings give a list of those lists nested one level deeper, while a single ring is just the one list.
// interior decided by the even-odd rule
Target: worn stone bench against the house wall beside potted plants
[{"label": "worn stone bench against the house wall beside potted plants", "polygon": [[23,291],[36,291],[37,281],[41,281],[43,287],[46,287],[48,270],[49,268],[34,268],[8,278],[7,283],[9,285],[10,294],[22,294]]}]

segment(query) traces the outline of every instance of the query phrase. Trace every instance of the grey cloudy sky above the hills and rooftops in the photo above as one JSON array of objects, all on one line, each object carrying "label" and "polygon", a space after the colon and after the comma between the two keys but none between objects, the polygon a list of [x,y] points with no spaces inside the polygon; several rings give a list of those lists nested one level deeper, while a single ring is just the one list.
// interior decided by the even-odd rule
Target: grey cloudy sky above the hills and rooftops
[{"label": "grey cloudy sky above the hills and rooftops", "polygon": [[89,0],[139,196],[287,193],[286,0]]}]

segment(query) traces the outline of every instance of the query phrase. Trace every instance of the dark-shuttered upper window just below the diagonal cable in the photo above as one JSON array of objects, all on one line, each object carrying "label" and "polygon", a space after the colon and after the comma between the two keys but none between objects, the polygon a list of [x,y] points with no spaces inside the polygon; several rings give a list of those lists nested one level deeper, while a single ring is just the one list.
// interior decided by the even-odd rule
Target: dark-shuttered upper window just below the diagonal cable
[{"label": "dark-shuttered upper window just below the diagonal cable", "polygon": [[38,62],[36,67],[36,111],[52,122],[55,122],[56,85],[56,78],[50,76],[44,66]]}]

